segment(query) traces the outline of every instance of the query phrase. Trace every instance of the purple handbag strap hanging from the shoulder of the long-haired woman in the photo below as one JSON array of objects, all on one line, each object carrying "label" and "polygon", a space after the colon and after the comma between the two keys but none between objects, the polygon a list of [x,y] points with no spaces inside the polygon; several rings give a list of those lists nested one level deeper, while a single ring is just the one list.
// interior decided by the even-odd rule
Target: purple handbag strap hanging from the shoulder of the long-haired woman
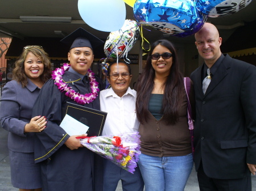
[{"label": "purple handbag strap hanging from the shoulder of the long-haired woman", "polygon": [[190,87],[191,87],[191,83],[190,80],[188,80],[188,77],[184,78],[184,86],[185,86],[185,91],[187,94],[187,102],[188,102],[188,128],[189,128],[189,132],[190,132],[190,137],[191,137],[191,148],[192,148],[192,155],[194,156],[194,135],[193,135],[193,129],[194,129],[194,124],[193,124],[193,120],[192,120],[192,108],[191,108],[191,104],[189,101],[189,92],[190,92]]}]

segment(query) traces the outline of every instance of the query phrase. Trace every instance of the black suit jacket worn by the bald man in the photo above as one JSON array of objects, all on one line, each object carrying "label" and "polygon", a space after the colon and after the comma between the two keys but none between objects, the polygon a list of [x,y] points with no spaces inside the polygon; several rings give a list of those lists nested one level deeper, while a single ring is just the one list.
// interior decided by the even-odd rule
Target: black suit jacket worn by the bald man
[{"label": "black suit jacket worn by the bald man", "polygon": [[196,97],[195,165],[207,176],[240,179],[256,164],[256,67],[225,55],[203,94],[201,70],[191,74]]}]

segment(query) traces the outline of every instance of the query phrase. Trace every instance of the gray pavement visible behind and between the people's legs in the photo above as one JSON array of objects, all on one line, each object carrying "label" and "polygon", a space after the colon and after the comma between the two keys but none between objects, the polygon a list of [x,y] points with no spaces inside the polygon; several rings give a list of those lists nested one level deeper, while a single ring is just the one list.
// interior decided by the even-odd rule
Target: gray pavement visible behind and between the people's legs
[{"label": "gray pavement visible behind and between the people's legs", "polygon": [[[0,191],[17,191],[18,189],[13,188],[13,186],[11,185],[10,160],[7,148],[7,134],[8,132],[6,130],[0,128]],[[253,191],[256,191],[256,176],[252,176],[252,182]],[[122,191],[121,182],[119,182],[116,191]],[[189,176],[184,191],[199,191],[195,168],[192,169],[191,175]]]}]

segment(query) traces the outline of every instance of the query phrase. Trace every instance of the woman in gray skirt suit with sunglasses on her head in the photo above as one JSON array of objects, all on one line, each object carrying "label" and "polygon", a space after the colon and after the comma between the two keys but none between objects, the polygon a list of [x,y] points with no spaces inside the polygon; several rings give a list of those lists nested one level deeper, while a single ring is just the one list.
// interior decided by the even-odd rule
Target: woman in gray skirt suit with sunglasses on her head
[{"label": "woman in gray skirt suit with sunglasses on her head", "polygon": [[44,116],[31,116],[40,88],[51,77],[51,62],[42,46],[25,46],[15,62],[13,80],[3,87],[0,122],[9,131],[11,182],[20,191],[42,190],[34,162],[34,134],[46,128]]}]

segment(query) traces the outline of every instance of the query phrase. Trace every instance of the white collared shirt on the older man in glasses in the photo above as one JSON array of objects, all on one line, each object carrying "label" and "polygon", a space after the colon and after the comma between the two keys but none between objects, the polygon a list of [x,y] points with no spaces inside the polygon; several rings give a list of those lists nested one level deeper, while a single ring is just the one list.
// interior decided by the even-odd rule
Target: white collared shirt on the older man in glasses
[{"label": "white collared shirt on the older man in glasses", "polygon": [[100,92],[101,111],[108,113],[102,135],[138,131],[135,101],[136,91],[130,87],[122,97],[117,96],[112,88]]}]

